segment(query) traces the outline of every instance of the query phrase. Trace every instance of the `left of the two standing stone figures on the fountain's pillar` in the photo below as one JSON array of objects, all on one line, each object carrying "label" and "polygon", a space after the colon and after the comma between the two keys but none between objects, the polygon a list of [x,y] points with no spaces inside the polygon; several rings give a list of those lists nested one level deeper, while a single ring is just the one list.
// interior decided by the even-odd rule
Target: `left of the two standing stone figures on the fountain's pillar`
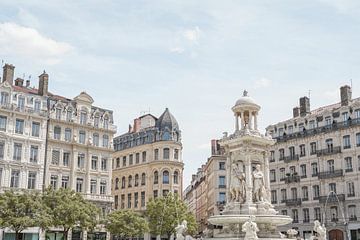
[{"label": "left of the two standing stone figures on the fountain's pillar", "polygon": [[232,177],[230,186],[230,195],[232,202],[243,203],[246,198],[245,174],[240,171],[239,166],[232,164]]}]

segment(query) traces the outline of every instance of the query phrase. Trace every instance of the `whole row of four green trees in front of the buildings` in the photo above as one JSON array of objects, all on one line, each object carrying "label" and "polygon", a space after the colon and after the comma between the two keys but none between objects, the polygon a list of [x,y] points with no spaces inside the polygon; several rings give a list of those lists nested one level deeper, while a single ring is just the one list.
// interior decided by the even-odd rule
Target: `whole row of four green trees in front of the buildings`
[{"label": "whole row of four green trees in front of the buildings", "polygon": [[0,195],[0,228],[12,229],[16,240],[29,227],[43,230],[59,227],[63,230],[64,240],[74,227],[93,231],[98,224],[119,237],[138,237],[146,232],[170,237],[182,220],[188,222],[188,234],[196,231],[194,215],[172,194],[150,200],[144,214],[118,210],[106,218],[99,218],[99,213],[99,209],[82,195],[64,188],[48,188],[43,193],[6,191]]}]

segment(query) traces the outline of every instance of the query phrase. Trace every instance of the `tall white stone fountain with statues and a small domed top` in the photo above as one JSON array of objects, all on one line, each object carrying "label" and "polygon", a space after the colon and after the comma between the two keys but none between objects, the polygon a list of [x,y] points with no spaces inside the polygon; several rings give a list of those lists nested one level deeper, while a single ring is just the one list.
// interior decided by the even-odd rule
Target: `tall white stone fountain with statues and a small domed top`
[{"label": "tall white stone fountain with statues and a small domed top", "polygon": [[244,91],[232,108],[235,132],[225,134],[220,145],[227,156],[227,201],[221,215],[212,216],[211,239],[284,239],[277,226],[292,222],[271,204],[269,148],[275,143],[258,130],[260,106]]}]

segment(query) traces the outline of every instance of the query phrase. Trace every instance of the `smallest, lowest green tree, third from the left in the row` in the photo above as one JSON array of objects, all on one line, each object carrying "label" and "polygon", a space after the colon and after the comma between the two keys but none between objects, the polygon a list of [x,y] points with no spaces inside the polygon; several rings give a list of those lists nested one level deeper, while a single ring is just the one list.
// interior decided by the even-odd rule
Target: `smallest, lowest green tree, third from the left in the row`
[{"label": "smallest, lowest green tree, third from the left in the row", "polygon": [[106,229],[120,237],[140,237],[149,231],[147,221],[131,210],[110,213],[105,222]]}]

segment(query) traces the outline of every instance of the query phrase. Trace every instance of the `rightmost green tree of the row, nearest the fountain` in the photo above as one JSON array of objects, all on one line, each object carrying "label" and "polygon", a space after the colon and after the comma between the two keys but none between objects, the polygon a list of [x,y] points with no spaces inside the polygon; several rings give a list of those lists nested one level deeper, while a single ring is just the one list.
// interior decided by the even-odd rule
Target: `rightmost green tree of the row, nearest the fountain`
[{"label": "rightmost green tree of the row, nearest the fountain", "polygon": [[150,232],[154,235],[175,234],[175,227],[183,220],[187,221],[187,233],[196,232],[197,224],[186,204],[177,195],[169,193],[166,197],[151,199],[146,207],[146,216]]}]

